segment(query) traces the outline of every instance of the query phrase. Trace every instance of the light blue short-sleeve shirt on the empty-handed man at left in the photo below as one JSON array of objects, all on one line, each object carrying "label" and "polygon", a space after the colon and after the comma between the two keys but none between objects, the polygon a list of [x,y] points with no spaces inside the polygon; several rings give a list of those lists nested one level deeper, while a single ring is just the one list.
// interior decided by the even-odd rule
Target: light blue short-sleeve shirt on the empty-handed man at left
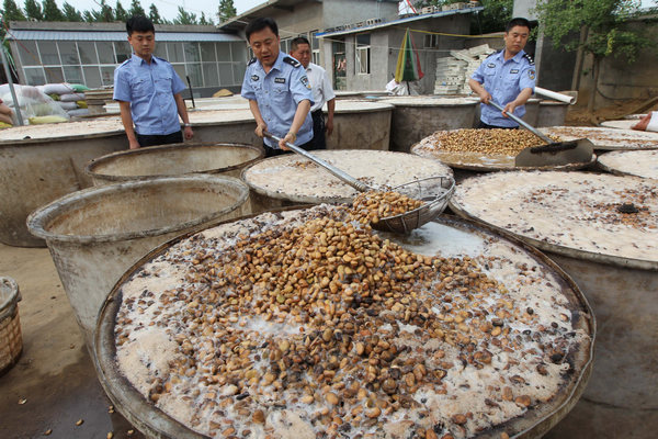
[{"label": "light blue short-sleeve shirt on the empty-handed man at left", "polygon": [[173,95],[185,85],[171,64],[151,56],[151,61],[133,54],[114,70],[114,100],[131,102],[135,131],[141,135],[167,135],[181,130]]}]

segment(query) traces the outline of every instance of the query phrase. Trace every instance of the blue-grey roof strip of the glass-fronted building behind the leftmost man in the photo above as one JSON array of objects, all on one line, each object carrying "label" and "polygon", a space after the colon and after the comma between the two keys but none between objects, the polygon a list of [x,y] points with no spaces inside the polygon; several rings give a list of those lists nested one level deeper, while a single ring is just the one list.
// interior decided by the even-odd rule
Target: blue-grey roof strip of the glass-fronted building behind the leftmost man
[{"label": "blue-grey roof strip of the glass-fronted building behind the leftmost man", "polygon": [[[9,30],[8,40],[44,41],[126,41],[125,32],[67,32],[67,31],[21,31]],[[157,42],[243,42],[237,35],[202,32],[158,32]]]}]

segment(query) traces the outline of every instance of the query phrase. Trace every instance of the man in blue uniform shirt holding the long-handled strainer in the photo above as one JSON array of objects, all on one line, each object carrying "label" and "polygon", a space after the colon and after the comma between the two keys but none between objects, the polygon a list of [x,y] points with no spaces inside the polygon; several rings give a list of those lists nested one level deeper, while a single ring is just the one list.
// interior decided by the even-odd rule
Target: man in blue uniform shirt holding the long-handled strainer
[{"label": "man in blue uniform shirt holding the long-handled strainer", "polygon": [[304,149],[313,148],[313,104],[310,83],[302,64],[279,49],[279,26],[270,18],[252,21],[245,30],[256,56],[247,66],[242,81],[242,98],[256,119],[256,134],[263,137],[266,130],[279,144],[265,138],[265,156],[285,153],[285,143]]}]

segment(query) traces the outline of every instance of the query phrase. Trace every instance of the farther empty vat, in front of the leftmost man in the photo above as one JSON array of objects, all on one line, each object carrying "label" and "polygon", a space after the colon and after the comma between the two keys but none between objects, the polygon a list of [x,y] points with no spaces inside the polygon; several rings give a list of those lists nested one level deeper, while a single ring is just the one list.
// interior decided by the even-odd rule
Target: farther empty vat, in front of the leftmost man
[{"label": "farther empty vat, in front of the leftmost man", "polygon": [[84,172],[95,185],[186,173],[240,177],[242,168],[260,160],[264,151],[245,144],[173,144],[109,154]]}]

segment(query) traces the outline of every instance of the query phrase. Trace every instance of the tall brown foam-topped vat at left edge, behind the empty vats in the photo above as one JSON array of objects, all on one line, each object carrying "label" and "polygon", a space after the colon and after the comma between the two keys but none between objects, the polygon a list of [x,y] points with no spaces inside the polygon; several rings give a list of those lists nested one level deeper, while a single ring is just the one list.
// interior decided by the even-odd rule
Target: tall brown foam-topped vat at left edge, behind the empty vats
[{"label": "tall brown foam-topped vat at left edge, behind the empty vats", "polygon": [[90,187],[92,158],[127,149],[120,121],[27,125],[0,132],[0,241],[44,247],[25,218],[38,206]]}]

